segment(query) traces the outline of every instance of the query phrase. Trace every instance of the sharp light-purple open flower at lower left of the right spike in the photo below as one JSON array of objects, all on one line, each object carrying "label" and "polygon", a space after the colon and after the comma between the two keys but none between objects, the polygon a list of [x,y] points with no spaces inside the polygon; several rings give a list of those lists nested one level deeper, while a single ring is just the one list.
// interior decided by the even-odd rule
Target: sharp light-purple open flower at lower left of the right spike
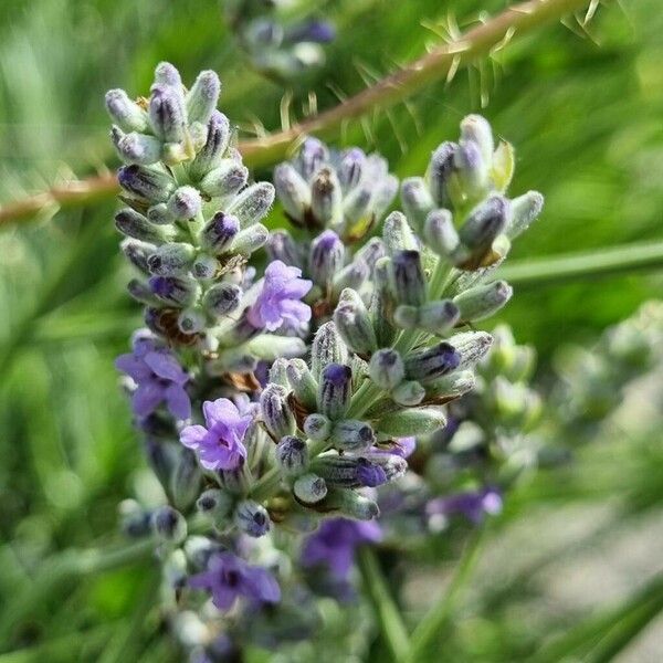
[{"label": "sharp light-purple open flower at lower left of the right spike", "polygon": [[246,430],[253,421],[254,411],[235,406],[227,398],[206,401],[202,404],[206,427],[188,425],[180,433],[180,442],[198,452],[206,470],[236,470],[246,457],[243,444]]}]

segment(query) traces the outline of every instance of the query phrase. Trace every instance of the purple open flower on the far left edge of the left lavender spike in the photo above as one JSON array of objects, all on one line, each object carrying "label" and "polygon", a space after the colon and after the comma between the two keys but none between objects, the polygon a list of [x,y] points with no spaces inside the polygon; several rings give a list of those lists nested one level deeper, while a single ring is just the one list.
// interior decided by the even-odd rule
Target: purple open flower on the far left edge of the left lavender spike
[{"label": "purple open flower on the far left edge of the left lavender spike", "polygon": [[185,389],[189,375],[168,348],[145,333],[137,334],[133,351],[120,355],[115,367],[129,376],[137,387],[131,409],[140,419],[149,417],[161,403],[177,419],[191,417],[191,401]]}]

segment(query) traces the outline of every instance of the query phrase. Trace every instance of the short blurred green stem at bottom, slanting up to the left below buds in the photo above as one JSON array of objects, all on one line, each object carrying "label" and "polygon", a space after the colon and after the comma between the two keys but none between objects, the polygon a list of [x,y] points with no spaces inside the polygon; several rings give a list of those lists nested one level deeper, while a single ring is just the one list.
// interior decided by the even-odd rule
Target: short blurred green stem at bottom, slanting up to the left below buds
[{"label": "short blurred green stem at bottom, slanting up to the left below buds", "polygon": [[410,646],[408,631],[389,592],[375,552],[369,547],[364,546],[359,550],[358,562],[364,590],[372,604],[380,634],[389,648],[393,661],[397,663],[404,661]]}]

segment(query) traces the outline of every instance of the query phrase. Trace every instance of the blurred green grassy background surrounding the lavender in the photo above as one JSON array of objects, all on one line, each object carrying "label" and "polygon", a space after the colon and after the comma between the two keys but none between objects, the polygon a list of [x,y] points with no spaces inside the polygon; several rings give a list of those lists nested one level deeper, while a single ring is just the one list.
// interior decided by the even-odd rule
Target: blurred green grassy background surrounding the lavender
[{"label": "blurred green grassy background surrounding the lavender", "polygon": [[[330,107],[337,95],[358,92],[440,43],[450,25],[470,25],[505,6],[322,2],[339,36],[326,67],[292,86],[293,114],[301,116],[311,90],[319,108]],[[565,22],[460,71],[450,84],[430,86],[408,106],[349,125],[337,143],[378,147],[399,176],[417,175],[441,140],[456,136],[465,114],[481,112],[516,146],[512,192],[538,189],[547,197],[541,220],[517,243],[514,259],[663,239],[660,0],[601,7],[587,30],[572,19]],[[215,1],[1,2],[0,201],[74,173],[114,168],[103,94],[117,86],[146,91],[161,60],[173,62],[185,80],[200,69],[218,71],[222,108],[245,135],[255,123],[280,128],[286,86],[251,70]],[[0,232],[0,652],[18,651],[0,654],[0,663],[46,654],[53,661],[178,660],[156,618],[146,617],[138,629],[131,619],[149,606],[148,565],[94,577],[62,571],[70,548],[117,540],[117,503],[134,492],[135,470],[143,464],[113,368],[139,323],[125,295],[114,208],[113,200],[102,200],[54,217],[46,208],[35,221]],[[273,221],[281,222],[277,211]],[[514,326],[518,341],[537,347],[546,380],[556,347],[591,343],[607,325],[660,296],[662,284],[661,274],[634,274],[522,288],[502,319]],[[499,525],[503,555],[495,545],[480,576],[490,596],[453,635],[465,653],[440,660],[507,661],[514,642],[543,641],[604,601],[630,594],[659,570],[660,555],[644,556],[624,576],[619,561],[631,554],[615,552],[615,561],[603,560],[608,580],[593,570],[601,579],[587,590],[597,592],[593,600],[575,602],[550,594],[551,580],[539,581],[527,591],[538,591],[547,609],[527,622],[526,633],[518,603],[525,583],[491,589],[496,576],[502,580],[517,575],[518,564],[534,564],[524,554],[533,541],[566,548],[560,530],[576,541],[590,534],[599,522],[592,509],[603,514],[630,505],[628,516],[604,528],[608,538],[590,540],[590,551],[609,546],[618,526],[624,540],[646,530],[645,543],[642,536],[632,540],[661,550],[659,440],[649,432],[612,432],[580,453],[572,470],[532,480],[507,503],[508,517]],[[558,573],[578,573],[585,568],[579,564],[569,561]],[[597,590],[606,582],[614,585],[612,593]],[[623,660],[660,661],[657,642],[654,654],[638,650],[636,657]],[[659,657],[641,657],[656,651]]]}]

